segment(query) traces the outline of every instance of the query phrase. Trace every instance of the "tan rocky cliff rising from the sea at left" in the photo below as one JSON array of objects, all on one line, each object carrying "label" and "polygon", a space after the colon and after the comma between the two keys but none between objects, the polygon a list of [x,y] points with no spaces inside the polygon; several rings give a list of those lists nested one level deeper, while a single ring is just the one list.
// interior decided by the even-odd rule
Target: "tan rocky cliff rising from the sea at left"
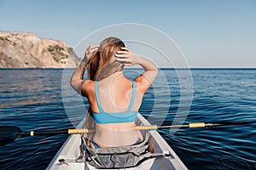
[{"label": "tan rocky cliff rising from the sea at left", "polygon": [[0,31],[0,68],[73,68],[79,60],[65,42]]}]

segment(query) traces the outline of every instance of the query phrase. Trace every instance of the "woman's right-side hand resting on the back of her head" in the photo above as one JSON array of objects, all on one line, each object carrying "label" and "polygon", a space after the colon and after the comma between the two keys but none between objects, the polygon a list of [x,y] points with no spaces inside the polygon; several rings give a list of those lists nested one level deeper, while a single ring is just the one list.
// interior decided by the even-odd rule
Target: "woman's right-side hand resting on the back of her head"
[{"label": "woman's right-side hand resting on the back of her head", "polygon": [[141,58],[137,54],[134,54],[129,48],[121,48],[121,51],[117,51],[115,59],[125,66],[137,65]]}]

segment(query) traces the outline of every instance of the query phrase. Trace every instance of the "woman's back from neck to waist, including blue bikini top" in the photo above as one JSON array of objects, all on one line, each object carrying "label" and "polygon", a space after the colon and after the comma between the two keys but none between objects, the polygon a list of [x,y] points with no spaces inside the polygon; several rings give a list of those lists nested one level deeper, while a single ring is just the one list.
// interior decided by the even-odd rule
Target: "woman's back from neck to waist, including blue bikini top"
[{"label": "woman's back from neck to waist, including blue bikini top", "polygon": [[100,147],[112,147],[141,141],[142,135],[134,130],[142,103],[136,82],[124,77],[120,71],[96,83],[95,98],[90,105],[96,122],[94,142]]}]

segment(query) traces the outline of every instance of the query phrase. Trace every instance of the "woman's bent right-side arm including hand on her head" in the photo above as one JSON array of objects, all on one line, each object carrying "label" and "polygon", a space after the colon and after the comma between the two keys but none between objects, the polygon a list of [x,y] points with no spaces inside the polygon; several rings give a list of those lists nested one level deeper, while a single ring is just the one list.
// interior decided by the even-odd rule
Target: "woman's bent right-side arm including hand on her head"
[{"label": "woman's bent right-side arm including hand on her head", "polygon": [[137,89],[144,94],[157,76],[157,66],[154,65],[154,63],[149,59],[145,59],[137,54],[134,54],[128,48],[121,49],[122,51],[118,51],[117,54],[115,54],[116,60],[127,66],[141,65],[145,70],[141,76],[135,78],[135,82],[137,82]]}]

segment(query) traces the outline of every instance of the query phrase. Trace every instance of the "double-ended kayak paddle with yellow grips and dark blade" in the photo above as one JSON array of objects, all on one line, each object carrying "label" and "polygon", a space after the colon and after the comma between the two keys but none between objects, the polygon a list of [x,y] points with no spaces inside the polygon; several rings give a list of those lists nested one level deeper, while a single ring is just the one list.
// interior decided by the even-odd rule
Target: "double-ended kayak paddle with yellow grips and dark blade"
[{"label": "double-ended kayak paddle with yellow grips and dark blade", "polygon": [[[136,126],[135,130],[156,130],[159,128],[191,128],[191,127],[216,127],[216,126],[230,126],[230,125],[242,125],[253,123],[256,121],[247,122],[190,122],[183,125],[170,125],[170,126],[157,126],[146,125]],[[22,136],[34,136],[34,135],[55,135],[55,134],[79,134],[79,133],[94,133],[94,129],[66,129],[66,130],[54,130],[54,131],[27,131],[23,132],[19,127],[15,126],[0,126],[0,146],[12,143],[15,139]]]}]

